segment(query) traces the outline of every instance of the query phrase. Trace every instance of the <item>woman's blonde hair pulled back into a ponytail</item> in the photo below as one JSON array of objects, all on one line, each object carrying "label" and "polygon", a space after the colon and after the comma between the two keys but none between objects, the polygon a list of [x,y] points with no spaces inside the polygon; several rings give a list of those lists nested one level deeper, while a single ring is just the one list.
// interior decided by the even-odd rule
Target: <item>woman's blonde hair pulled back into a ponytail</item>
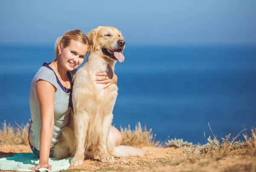
[{"label": "woman's blonde hair pulled back into a ponytail", "polygon": [[64,49],[70,44],[70,40],[77,40],[80,43],[83,43],[85,45],[89,46],[89,40],[87,36],[84,35],[84,33],[80,30],[73,30],[64,33],[63,37],[58,37],[58,39],[55,42],[55,59],[57,55],[59,54],[58,51],[58,45],[61,45],[61,48]]}]

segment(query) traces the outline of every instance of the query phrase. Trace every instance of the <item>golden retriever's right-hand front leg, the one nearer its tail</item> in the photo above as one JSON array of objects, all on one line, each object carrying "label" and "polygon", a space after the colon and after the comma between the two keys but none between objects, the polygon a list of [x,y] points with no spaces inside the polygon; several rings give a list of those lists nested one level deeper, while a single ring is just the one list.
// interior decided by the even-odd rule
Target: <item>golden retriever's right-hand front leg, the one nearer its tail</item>
[{"label": "golden retriever's right-hand front leg, the one nearer its tail", "polygon": [[99,140],[99,154],[100,154],[100,161],[103,163],[113,163],[114,158],[113,156],[109,155],[107,150],[107,141],[108,141],[108,134],[111,127],[113,119],[113,114],[109,114],[103,119],[102,121],[102,136]]}]

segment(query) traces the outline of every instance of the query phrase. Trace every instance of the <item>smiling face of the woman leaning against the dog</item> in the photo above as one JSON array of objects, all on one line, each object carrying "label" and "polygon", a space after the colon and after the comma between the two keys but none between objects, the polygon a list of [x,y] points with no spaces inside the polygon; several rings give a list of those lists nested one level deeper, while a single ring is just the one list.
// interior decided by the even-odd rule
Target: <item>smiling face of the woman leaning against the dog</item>
[{"label": "smiling face of the woman leaning against the dog", "polygon": [[70,40],[69,46],[61,49],[59,45],[58,50],[60,53],[60,59],[58,60],[61,66],[68,71],[72,71],[83,63],[84,57],[88,52],[88,46],[79,41]]}]

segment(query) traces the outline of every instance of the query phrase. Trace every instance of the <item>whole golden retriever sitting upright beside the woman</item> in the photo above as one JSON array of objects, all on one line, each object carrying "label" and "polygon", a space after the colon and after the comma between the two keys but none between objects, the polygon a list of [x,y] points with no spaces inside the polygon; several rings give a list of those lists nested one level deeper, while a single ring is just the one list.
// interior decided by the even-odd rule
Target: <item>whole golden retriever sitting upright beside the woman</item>
[{"label": "whole golden retriever sitting upright beside the woman", "polygon": [[[70,114],[70,125],[66,126],[61,138],[54,146],[57,159],[74,155],[72,166],[79,166],[85,158],[99,157],[101,162],[114,162],[113,157],[144,156],[131,146],[115,146],[116,136],[111,129],[113,107],[116,102],[117,86],[96,84],[96,73],[114,70],[117,61],[123,62],[125,41],[122,33],[109,26],[99,26],[88,33],[92,44],[86,63],[76,72],[72,101],[74,114]],[[102,77],[102,76],[97,76]]]}]

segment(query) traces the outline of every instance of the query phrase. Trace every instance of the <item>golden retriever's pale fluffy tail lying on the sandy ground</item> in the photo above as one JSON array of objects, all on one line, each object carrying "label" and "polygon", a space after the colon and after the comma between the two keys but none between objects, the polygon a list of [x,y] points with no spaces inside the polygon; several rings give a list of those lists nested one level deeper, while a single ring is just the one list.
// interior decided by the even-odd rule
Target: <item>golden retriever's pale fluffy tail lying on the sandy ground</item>
[{"label": "golden retriever's pale fluffy tail lying on the sandy ground", "polygon": [[117,146],[111,152],[111,155],[114,157],[143,157],[145,154],[134,147],[131,146]]}]

